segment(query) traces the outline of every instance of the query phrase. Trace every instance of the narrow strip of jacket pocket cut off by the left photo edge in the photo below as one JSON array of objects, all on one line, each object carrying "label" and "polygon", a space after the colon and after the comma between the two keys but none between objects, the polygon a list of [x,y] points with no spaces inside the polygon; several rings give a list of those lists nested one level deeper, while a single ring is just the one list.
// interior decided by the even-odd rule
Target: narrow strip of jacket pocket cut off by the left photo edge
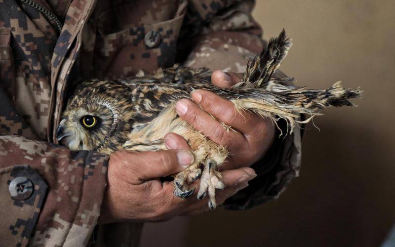
[{"label": "narrow strip of jacket pocket cut off by the left photo edge", "polygon": [[10,41],[11,29],[0,28],[0,87],[15,103],[15,65]]}]

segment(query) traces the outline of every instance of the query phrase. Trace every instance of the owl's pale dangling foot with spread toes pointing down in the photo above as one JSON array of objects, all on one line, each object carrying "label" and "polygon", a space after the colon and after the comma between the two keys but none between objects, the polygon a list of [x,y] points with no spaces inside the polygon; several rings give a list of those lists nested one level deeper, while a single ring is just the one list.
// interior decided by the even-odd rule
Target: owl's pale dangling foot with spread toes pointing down
[{"label": "owl's pale dangling foot with spread toes pointing down", "polygon": [[221,182],[221,173],[217,171],[217,162],[208,159],[204,164],[197,199],[202,200],[208,194],[208,207],[214,209],[217,206],[215,202],[215,189],[222,190],[224,188],[225,184]]}]

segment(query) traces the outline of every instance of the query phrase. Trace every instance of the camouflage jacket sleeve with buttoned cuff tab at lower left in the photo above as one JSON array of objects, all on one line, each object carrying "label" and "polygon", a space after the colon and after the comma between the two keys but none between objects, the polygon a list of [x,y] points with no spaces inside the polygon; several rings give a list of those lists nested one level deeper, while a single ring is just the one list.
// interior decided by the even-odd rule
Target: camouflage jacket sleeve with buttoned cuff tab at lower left
[{"label": "camouflage jacket sleeve with buttoned cuff tab at lower left", "polygon": [[2,246],[82,246],[96,225],[108,156],[31,140],[0,87]]}]

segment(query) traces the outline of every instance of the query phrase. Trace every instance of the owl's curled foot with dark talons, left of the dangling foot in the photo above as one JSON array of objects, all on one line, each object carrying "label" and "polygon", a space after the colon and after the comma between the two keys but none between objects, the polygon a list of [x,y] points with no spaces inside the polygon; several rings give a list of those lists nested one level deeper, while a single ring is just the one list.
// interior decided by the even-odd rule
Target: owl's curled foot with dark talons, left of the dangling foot
[{"label": "owl's curled foot with dark talons, left of the dangling foot", "polygon": [[195,188],[192,190],[189,190],[189,185],[190,183],[194,182],[201,174],[201,169],[196,168],[196,169],[187,169],[184,171],[181,171],[180,173],[177,173],[177,175],[174,177],[174,195],[177,197],[180,197],[182,199],[188,198],[195,192]]}]

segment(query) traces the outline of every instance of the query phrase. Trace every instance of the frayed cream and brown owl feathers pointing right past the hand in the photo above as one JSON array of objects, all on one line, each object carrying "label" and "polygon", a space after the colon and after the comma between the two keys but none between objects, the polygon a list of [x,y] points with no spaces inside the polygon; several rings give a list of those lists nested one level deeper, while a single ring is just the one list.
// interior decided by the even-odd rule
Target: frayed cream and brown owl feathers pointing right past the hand
[{"label": "frayed cream and brown owl feathers pointing right past the hand", "polygon": [[[318,113],[320,109],[328,106],[356,106],[349,99],[359,98],[361,93],[359,87],[356,89],[344,88],[341,82],[336,82],[326,89],[295,88],[294,90],[276,92],[255,89],[252,97],[232,99],[231,101],[239,112],[245,110],[254,112],[262,118],[271,119],[276,125],[278,120],[285,120],[292,133],[296,124],[306,124],[316,115],[321,115]],[[310,118],[298,121],[299,114],[306,114]]]}]

